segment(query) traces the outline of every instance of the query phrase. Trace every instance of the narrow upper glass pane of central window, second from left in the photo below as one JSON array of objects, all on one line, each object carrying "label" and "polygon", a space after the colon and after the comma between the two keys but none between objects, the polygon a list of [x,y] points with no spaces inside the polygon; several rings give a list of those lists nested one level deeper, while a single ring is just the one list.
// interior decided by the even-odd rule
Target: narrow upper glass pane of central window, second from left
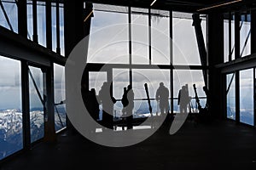
[{"label": "narrow upper glass pane of central window, second from left", "polygon": [[131,63],[149,64],[148,9],[131,8]]}]

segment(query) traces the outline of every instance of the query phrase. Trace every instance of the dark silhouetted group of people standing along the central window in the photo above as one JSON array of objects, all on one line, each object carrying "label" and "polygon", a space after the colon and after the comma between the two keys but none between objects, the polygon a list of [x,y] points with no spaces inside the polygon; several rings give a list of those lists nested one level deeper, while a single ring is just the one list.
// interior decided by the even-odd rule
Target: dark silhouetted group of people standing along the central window
[{"label": "dark silhouetted group of people standing along the central window", "polygon": [[[83,97],[86,109],[89,111],[90,116],[103,127],[109,129],[113,129],[114,127],[113,105],[117,102],[117,99],[113,97],[111,89],[112,83],[103,82],[98,95],[96,94],[96,89],[91,88],[87,93],[85,93],[87,97]],[[82,91],[82,93],[84,92]],[[169,89],[166,88],[164,82],[160,82],[160,86],[155,93],[155,99],[160,110],[160,116],[170,113]],[[187,113],[189,101],[188,85],[184,85],[178,92],[177,105],[180,106],[180,113]],[[124,88],[121,103],[123,105],[122,117],[125,117],[126,127],[127,129],[132,129],[134,92],[131,85]],[[99,116],[100,105],[102,105],[102,119],[100,119]]]}]

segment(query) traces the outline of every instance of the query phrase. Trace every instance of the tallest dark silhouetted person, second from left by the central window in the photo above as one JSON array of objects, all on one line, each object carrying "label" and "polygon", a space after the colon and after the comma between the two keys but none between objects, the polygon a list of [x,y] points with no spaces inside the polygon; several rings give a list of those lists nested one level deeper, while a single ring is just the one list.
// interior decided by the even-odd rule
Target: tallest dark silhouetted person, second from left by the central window
[{"label": "tallest dark silhouetted person, second from left by the central window", "polygon": [[102,104],[102,125],[113,129],[113,104],[115,104],[116,99],[111,96],[110,88],[110,83],[103,82],[99,91],[99,100]]}]

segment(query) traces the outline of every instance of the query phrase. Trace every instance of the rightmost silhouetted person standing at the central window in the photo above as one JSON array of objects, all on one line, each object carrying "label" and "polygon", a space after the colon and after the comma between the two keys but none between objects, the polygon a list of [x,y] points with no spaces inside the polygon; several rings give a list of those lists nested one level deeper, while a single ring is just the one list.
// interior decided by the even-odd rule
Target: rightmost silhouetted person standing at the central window
[{"label": "rightmost silhouetted person standing at the central window", "polygon": [[187,113],[189,100],[189,90],[186,86],[183,86],[182,89],[178,91],[177,96],[177,105],[179,105],[180,113]]}]

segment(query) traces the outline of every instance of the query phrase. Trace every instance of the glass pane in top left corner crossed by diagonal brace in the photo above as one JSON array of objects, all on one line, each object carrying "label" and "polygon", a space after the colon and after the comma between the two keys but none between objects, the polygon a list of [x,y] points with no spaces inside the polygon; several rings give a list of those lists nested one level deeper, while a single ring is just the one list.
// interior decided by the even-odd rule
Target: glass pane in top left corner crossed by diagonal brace
[{"label": "glass pane in top left corner crossed by diagonal brace", "polygon": [[[15,0],[5,0],[2,1],[3,8],[8,16],[9,22],[13,30],[18,33],[18,9],[15,3]],[[0,26],[3,26],[9,30],[11,30],[8,21],[6,20],[3,9],[0,8]]]}]

